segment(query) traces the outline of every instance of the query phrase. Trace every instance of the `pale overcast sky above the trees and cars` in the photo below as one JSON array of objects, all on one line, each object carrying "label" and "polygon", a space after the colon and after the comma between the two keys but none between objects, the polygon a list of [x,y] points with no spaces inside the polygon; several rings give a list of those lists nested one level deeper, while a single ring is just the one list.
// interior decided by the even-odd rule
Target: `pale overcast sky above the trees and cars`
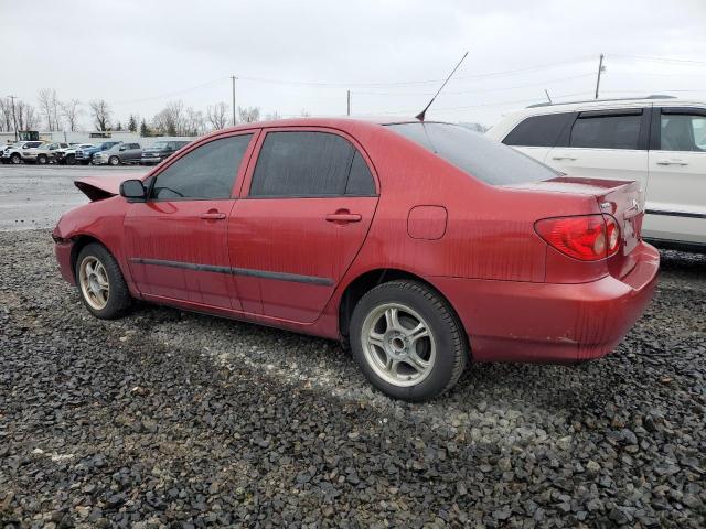
[{"label": "pale overcast sky above the trees and cars", "polygon": [[263,115],[343,115],[350,89],[355,115],[414,116],[467,50],[429,117],[590,98],[601,52],[603,97],[706,99],[705,0],[0,0],[0,97],[104,98],[124,123],[229,104],[231,75]]}]

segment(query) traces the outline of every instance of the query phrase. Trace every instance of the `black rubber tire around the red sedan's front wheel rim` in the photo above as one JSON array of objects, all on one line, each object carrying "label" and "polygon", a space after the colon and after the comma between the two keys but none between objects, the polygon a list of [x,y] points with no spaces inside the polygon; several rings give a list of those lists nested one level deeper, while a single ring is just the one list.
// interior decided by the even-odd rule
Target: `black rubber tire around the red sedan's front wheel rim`
[{"label": "black rubber tire around the red sedan's front wheel rim", "polygon": [[[86,294],[82,289],[81,268],[82,263],[87,258],[98,260],[107,273],[109,293],[107,296],[107,303],[101,309],[93,306],[92,302],[86,298]],[[88,311],[96,317],[101,320],[115,320],[122,316],[132,304],[132,298],[130,296],[130,291],[125,282],[118,261],[115,260],[106,247],[98,242],[86,245],[81,250],[78,258],[76,259],[74,277],[76,278],[76,287],[78,288],[81,300],[84,305],[86,305],[86,309],[88,309]]]}]

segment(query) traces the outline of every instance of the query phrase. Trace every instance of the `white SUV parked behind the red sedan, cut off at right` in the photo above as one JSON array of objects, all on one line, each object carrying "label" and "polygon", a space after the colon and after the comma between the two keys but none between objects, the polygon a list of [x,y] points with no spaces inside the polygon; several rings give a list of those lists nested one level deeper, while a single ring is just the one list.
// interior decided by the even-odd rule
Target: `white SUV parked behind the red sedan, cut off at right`
[{"label": "white SUV parked behind the red sedan, cut off at right", "polygon": [[706,102],[651,96],[533,105],[486,134],[573,176],[640,182],[644,238],[706,250]]}]

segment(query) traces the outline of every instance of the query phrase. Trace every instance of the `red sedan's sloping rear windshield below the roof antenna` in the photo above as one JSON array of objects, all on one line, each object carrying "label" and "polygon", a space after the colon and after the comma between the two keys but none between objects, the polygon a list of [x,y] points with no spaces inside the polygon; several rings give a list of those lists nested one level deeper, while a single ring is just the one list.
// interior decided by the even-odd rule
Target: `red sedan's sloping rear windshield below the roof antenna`
[{"label": "red sedan's sloping rear windshield below the roof antenna", "polygon": [[511,147],[458,125],[414,122],[387,127],[486,184],[521,184],[559,175]]}]

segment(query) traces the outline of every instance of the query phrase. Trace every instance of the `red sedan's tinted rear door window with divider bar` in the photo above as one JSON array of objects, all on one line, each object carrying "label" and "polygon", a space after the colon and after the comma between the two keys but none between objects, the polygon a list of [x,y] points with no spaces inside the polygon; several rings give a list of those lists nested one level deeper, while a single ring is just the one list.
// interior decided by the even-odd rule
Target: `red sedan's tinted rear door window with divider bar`
[{"label": "red sedan's tinted rear door window with divider bar", "polygon": [[331,132],[268,132],[249,196],[374,195],[373,175],[353,144]]}]

